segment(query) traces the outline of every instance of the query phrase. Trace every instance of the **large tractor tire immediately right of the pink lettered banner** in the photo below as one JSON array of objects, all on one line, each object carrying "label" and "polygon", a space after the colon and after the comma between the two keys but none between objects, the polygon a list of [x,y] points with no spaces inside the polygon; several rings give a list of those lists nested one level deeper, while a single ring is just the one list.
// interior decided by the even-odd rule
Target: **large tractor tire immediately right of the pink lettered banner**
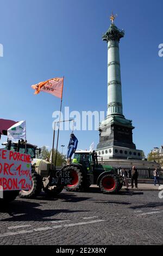
[{"label": "large tractor tire immediately right of the pink lettered banner", "polygon": [[21,198],[34,198],[39,196],[42,190],[42,179],[37,173],[32,173],[32,189],[29,191],[21,190],[19,196]]}]

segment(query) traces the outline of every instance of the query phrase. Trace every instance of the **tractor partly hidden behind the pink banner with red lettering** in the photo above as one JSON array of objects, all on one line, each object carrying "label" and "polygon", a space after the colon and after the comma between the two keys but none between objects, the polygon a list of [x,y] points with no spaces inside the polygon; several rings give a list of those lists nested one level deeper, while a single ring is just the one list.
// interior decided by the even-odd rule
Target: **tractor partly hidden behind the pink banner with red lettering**
[{"label": "tractor partly hidden behind the pink banner with red lettering", "polygon": [[9,141],[7,143],[3,143],[2,145],[5,145],[5,149],[7,150],[17,151],[21,154],[24,154],[26,150],[26,153],[30,155],[32,159],[32,189],[29,191],[21,190],[19,193],[20,197],[34,198],[39,196],[42,189],[48,196],[55,197],[63,190],[65,185],[71,183],[71,180],[67,179],[65,170],[62,172],[61,169],[61,174],[59,177],[60,179],[55,179],[57,182],[53,182],[52,184],[51,180],[53,177],[55,178],[55,172],[53,168],[51,168],[50,162],[36,158],[41,153],[41,149],[38,149],[36,145],[29,143],[25,144],[23,140],[21,142],[19,141],[18,143]]}]

